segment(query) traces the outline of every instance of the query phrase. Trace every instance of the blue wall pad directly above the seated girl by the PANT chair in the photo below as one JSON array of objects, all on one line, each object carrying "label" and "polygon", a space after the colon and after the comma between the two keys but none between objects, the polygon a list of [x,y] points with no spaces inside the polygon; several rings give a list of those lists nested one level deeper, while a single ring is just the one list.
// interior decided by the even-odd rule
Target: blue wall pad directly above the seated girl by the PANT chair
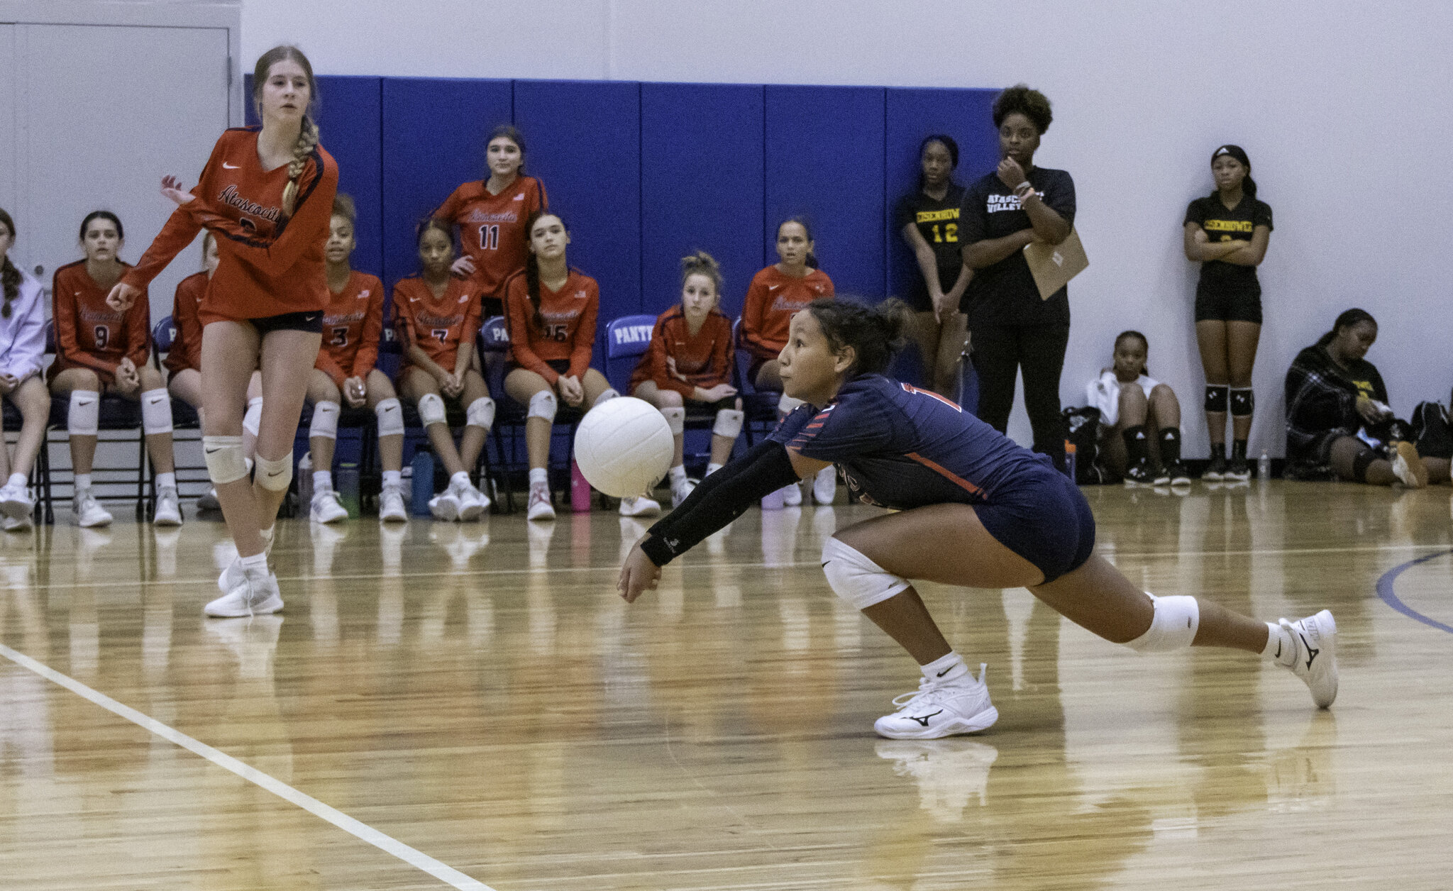
[{"label": "blue wall pad directly above the seated girl by the PANT chair", "polygon": [[763,257],[763,87],[641,84],[641,310],[680,299],[681,257],[706,250],[741,311]]}]

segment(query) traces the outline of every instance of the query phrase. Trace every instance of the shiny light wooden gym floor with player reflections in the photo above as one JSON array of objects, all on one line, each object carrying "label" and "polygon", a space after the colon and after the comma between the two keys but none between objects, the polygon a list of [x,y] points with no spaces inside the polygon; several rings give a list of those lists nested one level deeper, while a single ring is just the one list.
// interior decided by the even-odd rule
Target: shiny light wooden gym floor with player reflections
[{"label": "shiny light wooden gym floor with player reflections", "polygon": [[1087,494],[1152,592],[1331,608],[1334,709],[928,586],[1001,718],[879,740],[917,672],[818,568],[867,507],[748,512],[635,606],[610,513],[286,522],[253,621],[202,618],[219,522],[6,535],[0,888],[1453,887],[1450,490]]}]

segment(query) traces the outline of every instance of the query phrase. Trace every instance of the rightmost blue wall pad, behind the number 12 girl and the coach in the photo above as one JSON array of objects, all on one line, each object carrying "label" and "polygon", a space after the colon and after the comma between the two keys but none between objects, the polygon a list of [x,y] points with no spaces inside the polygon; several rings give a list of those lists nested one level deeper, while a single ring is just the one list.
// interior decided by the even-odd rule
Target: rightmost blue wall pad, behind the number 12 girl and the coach
[{"label": "rightmost blue wall pad, behind the number 12 girl and the coach", "polygon": [[[966,186],[998,164],[998,135],[991,108],[998,90],[888,89],[886,182],[883,218],[888,235],[888,292],[904,294],[918,265],[892,221],[894,205],[918,185],[918,144],[943,132],[959,144],[953,179]],[[912,278],[908,278],[912,276]],[[949,288],[952,282],[944,283]]]}]

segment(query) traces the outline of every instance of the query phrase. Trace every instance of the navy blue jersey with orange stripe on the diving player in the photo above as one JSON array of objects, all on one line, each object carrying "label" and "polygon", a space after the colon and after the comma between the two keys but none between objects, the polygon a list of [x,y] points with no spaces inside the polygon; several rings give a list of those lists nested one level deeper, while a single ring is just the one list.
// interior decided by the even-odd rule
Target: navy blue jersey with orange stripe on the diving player
[{"label": "navy blue jersey with orange stripe on the diving player", "polygon": [[989,504],[1017,481],[1058,474],[952,401],[882,375],[853,378],[819,411],[798,408],[772,439],[831,461],[865,501],[898,510]]}]

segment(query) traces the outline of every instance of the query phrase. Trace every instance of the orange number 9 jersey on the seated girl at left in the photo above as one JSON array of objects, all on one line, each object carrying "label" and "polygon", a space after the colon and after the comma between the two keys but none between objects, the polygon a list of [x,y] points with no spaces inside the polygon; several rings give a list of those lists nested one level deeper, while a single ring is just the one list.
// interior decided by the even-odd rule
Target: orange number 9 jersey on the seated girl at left
[{"label": "orange number 9 jersey on the seated girl at left", "polygon": [[[126,266],[126,263],[122,263]],[[55,363],[51,375],[67,368],[89,368],[110,382],[122,358],[141,368],[151,353],[151,302],[147,292],[125,313],[106,305],[109,288],[86,272],[86,260],[55,270],[51,297],[55,301]]]}]

